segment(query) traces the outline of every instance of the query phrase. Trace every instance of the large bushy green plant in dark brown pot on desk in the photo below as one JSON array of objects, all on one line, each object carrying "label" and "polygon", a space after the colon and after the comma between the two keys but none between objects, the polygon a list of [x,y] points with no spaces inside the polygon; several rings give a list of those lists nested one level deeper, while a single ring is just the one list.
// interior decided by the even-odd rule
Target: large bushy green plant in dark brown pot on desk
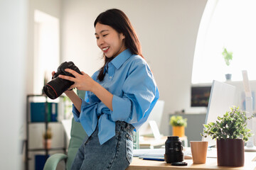
[{"label": "large bushy green plant in dark brown pot on desk", "polygon": [[215,123],[203,125],[203,137],[208,135],[217,140],[218,166],[243,166],[245,162],[244,142],[252,136],[247,128],[246,112],[233,106]]}]

